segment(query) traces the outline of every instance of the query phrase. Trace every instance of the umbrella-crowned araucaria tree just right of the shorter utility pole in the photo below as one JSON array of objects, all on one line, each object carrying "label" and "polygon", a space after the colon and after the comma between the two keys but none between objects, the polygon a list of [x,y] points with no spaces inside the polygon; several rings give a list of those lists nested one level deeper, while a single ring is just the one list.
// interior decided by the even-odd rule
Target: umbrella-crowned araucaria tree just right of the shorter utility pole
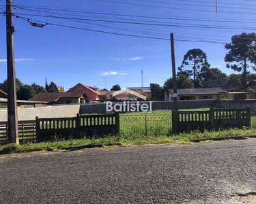
[{"label": "umbrella-crowned araucaria tree just right of the shorter utility pole", "polygon": [[199,83],[197,82],[199,79],[198,70],[203,65],[210,67],[205,52],[203,52],[201,49],[192,49],[188,50],[188,52],[184,55],[182,65],[178,69],[180,72],[182,72],[184,69],[192,67],[193,71],[185,71],[185,73],[180,73],[180,75],[187,75],[189,77],[193,75],[194,87],[197,87],[199,86]]}]

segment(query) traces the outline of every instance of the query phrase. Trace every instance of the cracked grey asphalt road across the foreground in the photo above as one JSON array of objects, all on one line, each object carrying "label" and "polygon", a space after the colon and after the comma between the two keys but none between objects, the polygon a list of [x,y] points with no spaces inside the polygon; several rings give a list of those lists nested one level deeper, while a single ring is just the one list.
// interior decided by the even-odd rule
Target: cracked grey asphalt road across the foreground
[{"label": "cracked grey asphalt road across the foreground", "polygon": [[0,203],[256,203],[254,192],[256,139],[0,156]]}]

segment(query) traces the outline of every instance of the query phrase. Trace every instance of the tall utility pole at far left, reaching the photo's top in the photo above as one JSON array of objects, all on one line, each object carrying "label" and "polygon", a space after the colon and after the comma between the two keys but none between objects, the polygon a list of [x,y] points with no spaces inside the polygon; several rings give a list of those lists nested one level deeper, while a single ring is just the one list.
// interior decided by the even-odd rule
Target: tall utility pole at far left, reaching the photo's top
[{"label": "tall utility pole at far left, reaching the photo's top", "polygon": [[16,74],[14,61],[14,26],[12,23],[12,0],[6,0],[6,43],[8,80],[8,142],[18,144],[18,114]]}]

